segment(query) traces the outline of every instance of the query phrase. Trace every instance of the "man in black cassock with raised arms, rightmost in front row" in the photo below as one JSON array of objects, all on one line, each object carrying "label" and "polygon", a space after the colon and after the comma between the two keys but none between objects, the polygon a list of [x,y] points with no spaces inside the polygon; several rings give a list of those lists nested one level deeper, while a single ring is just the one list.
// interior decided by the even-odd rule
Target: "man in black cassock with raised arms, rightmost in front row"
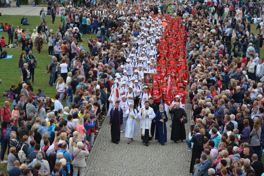
[{"label": "man in black cassock with raised arms, rightmost in front row", "polygon": [[180,108],[179,103],[175,104],[175,108],[170,104],[169,113],[173,114],[170,140],[174,141],[174,143],[177,143],[179,140],[183,142],[186,139],[186,133],[184,123],[181,122],[181,119],[186,119],[187,114],[183,108]]}]

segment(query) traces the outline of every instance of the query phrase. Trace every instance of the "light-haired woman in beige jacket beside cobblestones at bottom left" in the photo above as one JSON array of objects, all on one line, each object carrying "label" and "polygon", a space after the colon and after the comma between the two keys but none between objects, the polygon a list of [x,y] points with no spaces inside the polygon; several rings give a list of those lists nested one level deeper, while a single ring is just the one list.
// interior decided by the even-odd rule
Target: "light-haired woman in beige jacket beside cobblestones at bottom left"
[{"label": "light-haired woman in beige jacket beside cobblestones at bottom left", "polygon": [[[84,148],[82,150],[81,148]],[[73,156],[74,160],[72,162],[73,165],[73,176],[77,176],[78,171],[80,173],[80,176],[84,176],[84,170],[86,167],[85,157],[89,155],[89,151],[87,150],[86,144],[82,142],[77,143],[77,147],[73,149]]]}]

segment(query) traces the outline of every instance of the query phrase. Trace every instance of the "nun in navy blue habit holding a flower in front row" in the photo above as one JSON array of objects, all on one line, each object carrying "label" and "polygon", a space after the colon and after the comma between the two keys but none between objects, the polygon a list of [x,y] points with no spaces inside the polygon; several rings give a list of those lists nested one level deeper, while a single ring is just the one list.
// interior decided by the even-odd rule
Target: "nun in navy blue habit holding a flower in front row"
[{"label": "nun in navy blue habit holding a flower in front row", "polygon": [[167,112],[164,111],[162,104],[159,106],[160,110],[156,113],[156,135],[155,140],[157,139],[161,145],[167,142],[167,126],[166,122],[168,121]]}]

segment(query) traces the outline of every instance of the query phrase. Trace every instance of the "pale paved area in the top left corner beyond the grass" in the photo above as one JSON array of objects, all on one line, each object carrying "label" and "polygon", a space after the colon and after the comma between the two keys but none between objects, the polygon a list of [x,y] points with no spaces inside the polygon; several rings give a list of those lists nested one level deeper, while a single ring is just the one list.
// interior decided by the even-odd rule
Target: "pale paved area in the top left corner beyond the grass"
[{"label": "pale paved area in the top left corner beyond the grass", "polygon": [[29,7],[29,6],[21,6],[21,7],[13,7],[13,8],[0,8],[0,12],[3,15],[32,15],[39,16],[39,12],[44,8],[47,10],[47,7]]}]

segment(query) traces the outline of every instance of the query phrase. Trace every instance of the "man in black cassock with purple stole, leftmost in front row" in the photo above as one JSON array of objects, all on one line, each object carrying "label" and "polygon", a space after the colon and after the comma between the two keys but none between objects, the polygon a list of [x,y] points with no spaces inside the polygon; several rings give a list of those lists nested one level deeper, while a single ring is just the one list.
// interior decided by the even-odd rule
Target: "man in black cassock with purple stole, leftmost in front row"
[{"label": "man in black cassock with purple stole, leftmost in front row", "polygon": [[115,102],[115,107],[110,111],[111,141],[118,144],[120,141],[120,129],[123,125],[123,111],[119,108],[119,101]]}]

